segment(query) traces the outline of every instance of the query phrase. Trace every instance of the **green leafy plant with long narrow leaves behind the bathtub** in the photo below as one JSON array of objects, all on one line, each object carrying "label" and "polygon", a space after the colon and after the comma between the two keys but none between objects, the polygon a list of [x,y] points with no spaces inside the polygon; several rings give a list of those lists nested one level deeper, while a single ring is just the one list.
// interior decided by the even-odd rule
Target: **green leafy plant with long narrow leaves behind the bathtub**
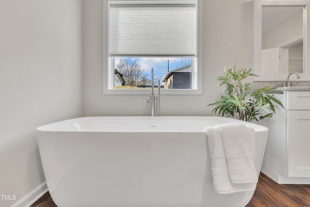
[{"label": "green leafy plant with long narrow leaves behind the bathtub", "polygon": [[[253,122],[261,121],[266,117],[271,117],[276,113],[275,109],[278,105],[283,107],[283,104],[273,95],[277,93],[275,87],[266,86],[259,89],[254,89],[250,83],[243,84],[242,80],[248,76],[257,76],[250,73],[253,68],[236,69],[224,68],[223,76],[217,78],[219,87],[225,86],[224,94],[219,100],[211,105],[217,105],[213,111],[218,112],[221,116],[235,117],[239,120]],[[267,112],[266,112],[267,111]]]}]

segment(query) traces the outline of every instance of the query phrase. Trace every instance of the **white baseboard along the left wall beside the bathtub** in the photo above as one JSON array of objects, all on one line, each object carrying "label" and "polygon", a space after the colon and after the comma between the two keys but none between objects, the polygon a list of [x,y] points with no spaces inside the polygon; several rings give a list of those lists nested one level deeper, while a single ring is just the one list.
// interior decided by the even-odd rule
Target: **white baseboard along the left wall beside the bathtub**
[{"label": "white baseboard along the left wall beside the bathtub", "polygon": [[11,207],[30,207],[34,202],[36,202],[42,195],[47,192],[47,182],[45,181],[27,195],[22,197]]}]

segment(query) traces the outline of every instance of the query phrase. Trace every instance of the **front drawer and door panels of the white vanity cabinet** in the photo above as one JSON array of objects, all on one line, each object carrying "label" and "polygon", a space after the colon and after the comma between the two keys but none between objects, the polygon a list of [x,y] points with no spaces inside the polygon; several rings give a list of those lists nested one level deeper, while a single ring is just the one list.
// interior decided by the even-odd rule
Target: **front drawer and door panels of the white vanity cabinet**
[{"label": "front drawer and door panels of the white vanity cabinet", "polygon": [[310,177],[310,92],[286,96],[286,175]]}]

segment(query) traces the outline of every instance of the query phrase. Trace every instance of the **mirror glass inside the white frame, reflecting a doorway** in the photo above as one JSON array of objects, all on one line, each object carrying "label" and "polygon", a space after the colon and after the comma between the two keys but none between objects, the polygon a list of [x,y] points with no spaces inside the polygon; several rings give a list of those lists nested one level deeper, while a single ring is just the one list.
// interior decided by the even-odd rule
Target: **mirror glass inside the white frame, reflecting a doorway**
[{"label": "mirror glass inside the white frame, reflecting a doorway", "polygon": [[304,73],[304,7],[262,7],[262,74]]}]

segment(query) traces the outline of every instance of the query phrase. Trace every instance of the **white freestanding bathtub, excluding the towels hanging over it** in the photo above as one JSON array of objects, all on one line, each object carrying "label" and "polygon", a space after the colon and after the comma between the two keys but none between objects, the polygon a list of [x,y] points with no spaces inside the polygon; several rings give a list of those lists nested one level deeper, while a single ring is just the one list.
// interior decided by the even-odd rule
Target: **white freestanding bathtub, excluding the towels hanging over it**
[{"label": "white freestanding bathtub, excluding the towels hanging over it", "polygon": [[268,129],[223,117],[83,117],[37,128],[58,207],[244,207],[254,191],[218,194],[204,127],[256,132],[260,173]]}]

